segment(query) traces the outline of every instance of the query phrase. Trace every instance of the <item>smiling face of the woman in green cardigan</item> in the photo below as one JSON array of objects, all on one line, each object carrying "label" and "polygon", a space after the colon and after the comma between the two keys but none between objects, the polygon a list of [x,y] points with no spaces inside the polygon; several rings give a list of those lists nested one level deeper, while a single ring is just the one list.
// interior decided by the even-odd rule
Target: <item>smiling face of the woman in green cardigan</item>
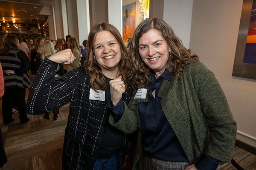
[{"label": "smiling face of the woman in green cardigan", "polygon": [[155,72],[157,77],[163,74],[166,68],[169,52],[171,52],[171,48],[160,31],[151,29],[140,37],[140,57]]}]

